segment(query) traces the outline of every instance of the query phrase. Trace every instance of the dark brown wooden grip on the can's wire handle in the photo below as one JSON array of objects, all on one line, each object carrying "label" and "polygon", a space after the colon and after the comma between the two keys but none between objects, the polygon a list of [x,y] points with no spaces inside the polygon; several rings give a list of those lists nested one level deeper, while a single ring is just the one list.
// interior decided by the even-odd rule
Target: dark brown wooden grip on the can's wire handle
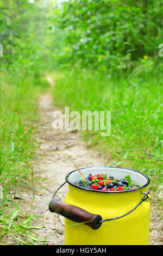
[{"label": "dark brown wooden grip on the can's wire handle", "polygon": [[87,222],[84,224],[89,225],[89,227],[91,227],[92,229],[98,229],[99,227],[101,227],[102,224],[101,222],[99,222],[102,220],[102,217],[100,215],[90,214],[82,208],[71,204],[61,203],[55,199],[53,199],[49,203],[49,210],[51,212],[56,212],[57,214],[60,214],[65,218],[68,218],[68,220],[74,222]]}]

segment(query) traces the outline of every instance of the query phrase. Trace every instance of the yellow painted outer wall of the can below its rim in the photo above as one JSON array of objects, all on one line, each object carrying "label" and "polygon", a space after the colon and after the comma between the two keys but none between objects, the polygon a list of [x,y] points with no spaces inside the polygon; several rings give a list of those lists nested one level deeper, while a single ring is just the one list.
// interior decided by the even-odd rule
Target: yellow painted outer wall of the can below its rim
[{"label": "yellow painted outer wall of the can below its rim", "polygon": [[[65,203],[103,219],[126,214],[140,202],[146,187],[129,192],[98,193],[69,186]],[[65,245],[149,245],[150,202],[142,202],[118,220],[103,222],[97,230],[65,218]]]}]

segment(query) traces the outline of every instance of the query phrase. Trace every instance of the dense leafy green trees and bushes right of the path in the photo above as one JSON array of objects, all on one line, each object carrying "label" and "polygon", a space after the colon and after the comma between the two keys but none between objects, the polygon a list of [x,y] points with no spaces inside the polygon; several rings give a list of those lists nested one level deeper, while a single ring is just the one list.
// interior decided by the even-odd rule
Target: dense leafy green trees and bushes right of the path
[{"label": "dense leafy green trees and bushes right of the path", "polygon": [[118,71],[132,69],[144,56],[157,57],[162,10],[159,0],[62,2],[52,16],[53,34],[64,32],[60,62]]}]

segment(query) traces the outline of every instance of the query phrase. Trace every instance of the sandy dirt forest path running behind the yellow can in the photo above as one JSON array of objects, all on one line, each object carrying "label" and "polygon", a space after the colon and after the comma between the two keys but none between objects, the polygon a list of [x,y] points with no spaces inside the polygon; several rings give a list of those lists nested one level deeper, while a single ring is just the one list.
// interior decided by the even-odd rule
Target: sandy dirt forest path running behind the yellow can
[{"label": "sandy dirt forest path running behind the yellow can", "polygon": [[[52,86],[54,85],[51,77],[47,77],[47,80]],[[111,163],[106,157],[99,155],[98,151],[87,149],[86,143],[80,138],[79,131],[54,131],[52,129],[52,113],[58,109],[54,106],[50,93],[41,95],[38,109],[41,115],[41,125],[35,135],[39,149],[33,160],[33,170],[35,176],[41,177],[41,186],[35,187],[33,203],[31,203],[33,199],[31,193],[26,192],[23,195],[24,205],[31,205],[28,214],[42,217],[35,220],[35,225],[42,226],[41,229],[34,230],[38,234],[39,244],[46,241],[45,245],[64,245],[64,218],[48,210],[53,192],[65,181],[66,174],[74,169],[72,162],[78,167],[109,166]],[[65,185],[57,193],[58,198],[64,201],[67,191],[68,186]],[[161,230],[156,221],[157,217],[152,210],[151,245],[161,244]]]}]

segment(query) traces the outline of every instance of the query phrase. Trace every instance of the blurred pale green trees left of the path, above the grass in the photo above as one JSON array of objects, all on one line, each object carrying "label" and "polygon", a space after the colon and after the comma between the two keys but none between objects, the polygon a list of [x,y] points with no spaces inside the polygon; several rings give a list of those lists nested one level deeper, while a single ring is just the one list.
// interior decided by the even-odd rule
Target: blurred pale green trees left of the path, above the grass
[{"label": "blurred pale green trees left of the path, above the grass", "polygon": [[43,1],[10,0],[0,3],[0,43],[3,57],[0,71],[24,72],[37,78],[45,67],[43,36],[46,19]]}]

